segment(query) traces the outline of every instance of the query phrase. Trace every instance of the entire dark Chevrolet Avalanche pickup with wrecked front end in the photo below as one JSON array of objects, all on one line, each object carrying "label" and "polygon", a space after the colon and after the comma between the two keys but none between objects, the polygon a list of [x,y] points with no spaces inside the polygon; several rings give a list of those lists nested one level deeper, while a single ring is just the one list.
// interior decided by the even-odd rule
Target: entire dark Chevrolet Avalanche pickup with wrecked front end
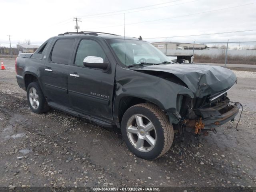
[{"label": "entire dark Chevrolet Avalanche pickup with wrecked front end", "polygon": [[33,112],[50,106],[117,126],[127,147],[148,160],[169,150],[174,132],[214,131],[240,108],[227,97],[237,81],[231,70],[174,64],[141,38],[66,32],[19,54],[15,66]]}]

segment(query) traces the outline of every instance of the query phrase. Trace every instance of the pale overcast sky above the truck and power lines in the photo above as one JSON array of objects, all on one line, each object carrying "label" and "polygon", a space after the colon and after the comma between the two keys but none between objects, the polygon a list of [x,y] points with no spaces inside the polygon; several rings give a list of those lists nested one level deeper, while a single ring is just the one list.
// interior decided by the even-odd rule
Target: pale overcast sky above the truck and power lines
[{"label": "pale overcast sky above the truck and power lines", "polygon": [[[155,4],[160,5],[151,6]],[[240,6],[244,4],[250,5]],[[229,8],[234,6],[240,7]],[[72,18],[76,16],[82,20],[80,30],[123,35],[123,13],[126,13],[126,36],[141,35],[142,38],[256,29],[256,0],[0,0],[0,7],[1,16],[5,18],[0,22],[1,46],[8,46],[8,34],[12,35],[12,46],[16,46],[25,39],[30,39],[31,44],[42,44],[52,36],[75,31]],[[145,8],[134,9],[138,7]],[[197,14],[201,12],[206,13]],[[256,31],[167,40],[193,42],[195,39],[197,42],[255,41]]]}]

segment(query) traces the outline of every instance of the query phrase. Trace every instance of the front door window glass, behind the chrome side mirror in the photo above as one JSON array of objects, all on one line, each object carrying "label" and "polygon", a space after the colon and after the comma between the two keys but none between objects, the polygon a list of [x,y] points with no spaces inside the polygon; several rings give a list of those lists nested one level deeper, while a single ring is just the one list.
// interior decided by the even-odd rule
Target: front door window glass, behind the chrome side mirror
[{"label": "front door window glass, behind the chrome side mirror", "polygon": [[101,57],[104,62],[107,62],[107,57],[102,47],[94,40],[84,39],[80,42],[76,52],[75,65],[84,66],[84,58],[87,56]]}]

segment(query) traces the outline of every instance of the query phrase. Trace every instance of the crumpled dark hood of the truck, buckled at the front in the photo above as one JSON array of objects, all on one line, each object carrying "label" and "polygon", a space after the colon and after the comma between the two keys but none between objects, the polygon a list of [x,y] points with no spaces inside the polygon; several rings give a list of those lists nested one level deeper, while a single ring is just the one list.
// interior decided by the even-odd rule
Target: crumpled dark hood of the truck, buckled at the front
[{"label": "crumpled dark hood of the truck, buckled at the front", "polygon": [[202,98],[230,88],[236,82],[236,75],[229,69],[204,64],[160,64],[138,70],[162,71],[174,74],[194,93]]}]

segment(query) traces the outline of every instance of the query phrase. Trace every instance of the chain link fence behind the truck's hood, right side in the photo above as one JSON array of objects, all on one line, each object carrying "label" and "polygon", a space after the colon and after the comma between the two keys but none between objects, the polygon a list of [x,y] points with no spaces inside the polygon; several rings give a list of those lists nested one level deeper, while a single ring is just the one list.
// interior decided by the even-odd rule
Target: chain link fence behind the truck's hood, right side
[{"label": "chain link fence behind the truck's hood, right side", "polygon": [[256,64],[256,41],[153,44],[158,44],[156,47],[167,55],[193,54],[194,62],[199,63]]}]

